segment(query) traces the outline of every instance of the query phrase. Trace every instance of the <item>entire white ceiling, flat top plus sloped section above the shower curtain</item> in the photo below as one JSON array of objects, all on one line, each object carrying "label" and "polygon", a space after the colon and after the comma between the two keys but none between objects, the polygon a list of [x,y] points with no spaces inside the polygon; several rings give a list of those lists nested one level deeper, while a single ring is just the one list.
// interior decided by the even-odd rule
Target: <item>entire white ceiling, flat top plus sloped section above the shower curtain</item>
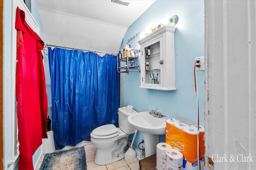
[{"label": "entire white ceiling, flat top plus sloped section above the shower curtain", "polygon": [[155,2],[122,1],[129,6],[111,0],[36,0],[46,43],[116,53],[127,28]]}]

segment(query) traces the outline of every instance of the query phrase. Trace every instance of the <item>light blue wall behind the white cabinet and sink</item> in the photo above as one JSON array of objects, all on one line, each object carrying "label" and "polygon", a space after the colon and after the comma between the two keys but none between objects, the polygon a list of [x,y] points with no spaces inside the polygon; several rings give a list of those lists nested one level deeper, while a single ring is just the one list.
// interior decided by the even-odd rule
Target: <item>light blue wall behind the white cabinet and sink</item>
[{"label": "light blue wall behind the white cabinet and sink", "polygon": [[[156,0],[126,31],[121,49],[130,38],[140,32],[140,38],[130,44],[140,48],[138,40],[146,30],[155,28],[163,18],[178,15],[175,32],[176,91],[141,89],[140,72],[124,74],[124,106],[133,105],[138,112],[158,109],[167,117],[179,117],[196,123],[196,92],[194,62],[204,56],[204,1],[203,0]],[[200,125],[204,125],[204,71],[197,71]],[[133,135],[130,135],[130,140]],[[143,138],[139,132],[134,146]],[[165,136],[160,136],[164,141]]]}]

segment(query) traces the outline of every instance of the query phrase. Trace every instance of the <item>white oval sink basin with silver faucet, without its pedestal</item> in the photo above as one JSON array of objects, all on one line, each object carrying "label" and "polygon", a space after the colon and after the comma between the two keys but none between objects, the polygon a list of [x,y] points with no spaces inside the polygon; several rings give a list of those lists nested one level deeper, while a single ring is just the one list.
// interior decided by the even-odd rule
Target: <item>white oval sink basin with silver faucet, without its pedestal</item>
[{"label": "white oval sink basin with silver faucet, without its pedestal", "polygon": [[128,122],[132,127],[147,134],[160,135],[165,134],[167,117],[157,118],[148,112],[139,112],[128,117]]}]

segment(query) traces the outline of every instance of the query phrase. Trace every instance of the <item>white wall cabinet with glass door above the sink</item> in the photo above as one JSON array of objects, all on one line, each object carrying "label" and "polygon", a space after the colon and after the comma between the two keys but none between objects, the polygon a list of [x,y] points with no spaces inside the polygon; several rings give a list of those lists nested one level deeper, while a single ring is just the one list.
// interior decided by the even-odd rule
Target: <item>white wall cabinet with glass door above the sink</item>
[{"label": "white wall cabinet with glass door above the sink", "polygon": [[[138,41],[141,49],[140,88],[176,90],[174,33],[176,27],[166,25]],[[150,49],[150,51],[149,51]],[[149,63],[149,69],[146,68]]]}]

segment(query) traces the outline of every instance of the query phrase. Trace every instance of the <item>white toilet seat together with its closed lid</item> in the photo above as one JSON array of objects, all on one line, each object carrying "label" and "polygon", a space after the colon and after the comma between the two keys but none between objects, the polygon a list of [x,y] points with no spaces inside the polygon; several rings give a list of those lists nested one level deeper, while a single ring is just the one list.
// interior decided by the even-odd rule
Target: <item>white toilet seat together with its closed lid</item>
[{"label": "white toilet seat together with its closed lid", "polygon": [[113,124],[103,125],[92,130],[91,137],[97,139],[113,138],[119,135],[118,128]]}]

